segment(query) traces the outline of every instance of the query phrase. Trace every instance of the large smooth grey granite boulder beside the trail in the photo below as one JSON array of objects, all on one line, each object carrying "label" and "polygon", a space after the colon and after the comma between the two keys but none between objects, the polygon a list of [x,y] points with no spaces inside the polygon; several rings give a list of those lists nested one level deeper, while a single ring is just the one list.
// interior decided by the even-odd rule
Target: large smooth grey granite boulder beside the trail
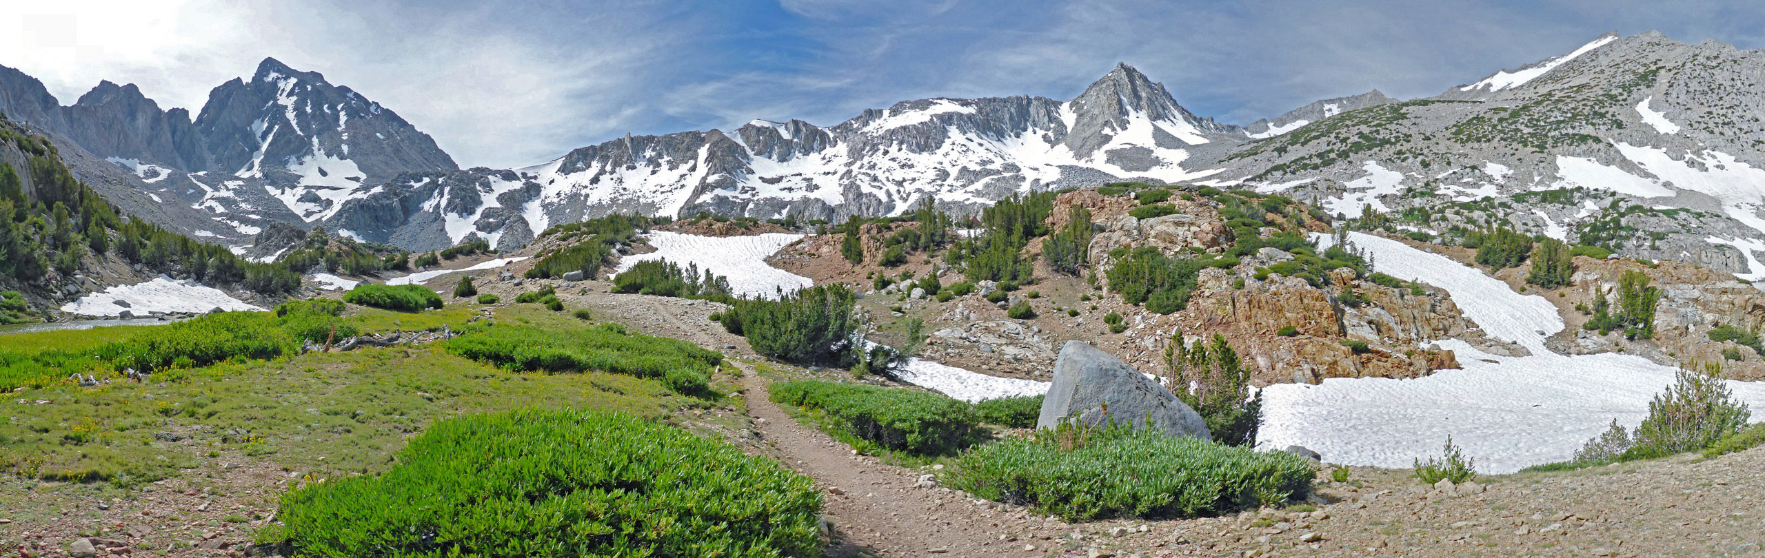
[{"label": "large smooth grey granite boulder beside the trail", "polygon": [[1041,401],[1036,427],[1055,427],[1075,418],[1098,426],[1105,420],[1105,404],[1110,418],[1133,424],[1135,429],[1156,427],[1172,436],[1213,440],[1202,415],[1156,380],[1084,341],[1066,341],[1054,362],[1054,385]]}]

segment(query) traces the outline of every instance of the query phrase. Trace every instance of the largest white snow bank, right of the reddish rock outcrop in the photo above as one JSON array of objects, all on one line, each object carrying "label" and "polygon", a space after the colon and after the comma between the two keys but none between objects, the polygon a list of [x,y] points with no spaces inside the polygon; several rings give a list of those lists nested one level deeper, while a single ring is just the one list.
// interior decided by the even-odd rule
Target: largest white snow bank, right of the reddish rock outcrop
[{"label": "largest white snow bank, right of the reddish rock outcrop", "polygon": [[[1329,242],[1327,238],[1324,242]],[[1440,341],[1463,369],[1416,380],[1329,378],[1320,385],[1278,383],[1262,390],[1266,449],[1292,443],[1331,463],[1408,468],[1440,454],[1451,434],[1484,473],[1566,461],[1611,418],[1636,426],[1649,399],[1673,383],[1673,367],[1631,355],[1564,357],[1544,350],[1562,318],[1541,297],[1446,256],[1396,240],[1354,233],[1375,270],[1421,281],[1453,300],[1491,337],[1520,343],[1532,357],[1481,353],[1463,341]],[[1730,381],[1735,397],[1765,408],[1765,383]]]}]

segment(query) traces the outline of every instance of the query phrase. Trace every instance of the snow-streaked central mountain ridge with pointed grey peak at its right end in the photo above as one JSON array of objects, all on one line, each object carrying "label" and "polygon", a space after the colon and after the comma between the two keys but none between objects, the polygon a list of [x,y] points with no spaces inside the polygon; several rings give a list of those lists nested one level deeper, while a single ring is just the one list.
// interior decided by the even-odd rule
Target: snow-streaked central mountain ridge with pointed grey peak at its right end
[{"label": "snow-streaked central mountain ridge with pointed grey peak at its right end", "polygon": [[969,212],[1013,192],[1204,178],[1213,170],[1190,164],[1193,154],[1243,140],[1239,127],[1195,117],[1163,85],[1117,65],[1066,102],[923,99],[831,127],[754,120],[727,132],[627,136],[517,170],[538,191],[503,207],[519,203],[531,231],[611,212],[884,215],[925,198]]}]

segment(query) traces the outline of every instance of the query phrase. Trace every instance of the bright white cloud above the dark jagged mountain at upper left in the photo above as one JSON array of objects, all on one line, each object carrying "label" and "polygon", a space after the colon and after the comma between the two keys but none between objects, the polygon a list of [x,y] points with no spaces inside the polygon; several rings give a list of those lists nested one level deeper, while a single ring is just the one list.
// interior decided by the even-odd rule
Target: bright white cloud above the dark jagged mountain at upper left
[{"label": "bright white cloud above the dark jagged mountain at upper left", "polygon": [[275,57],[397,111],[461,166],[521,166],[628,125],[641,69],[688,32],[658,19],[694,25],[609,9],[577,21],[593,34],[552,42],[507,14],[328,2],[39,2],[0,11],[0,65],[42,79],[62,104],[109,79],[194,115],[210,88]]}]

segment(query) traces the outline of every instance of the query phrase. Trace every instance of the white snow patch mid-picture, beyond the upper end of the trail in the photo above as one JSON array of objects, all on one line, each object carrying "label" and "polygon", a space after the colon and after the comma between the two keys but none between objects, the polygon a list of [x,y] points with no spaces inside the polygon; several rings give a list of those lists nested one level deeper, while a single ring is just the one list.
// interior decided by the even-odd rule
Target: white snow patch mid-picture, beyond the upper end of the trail
[{"label": "white snow patch mid-picture, beyond the upper end of the trail", "polygon": [[777,254],[803,235],[764,233],[750,237],[699,237],[671,231],[651,231],[650,245],[657,251],[620,258],[618,272],[625,272],[637,261],[667,260],[681,267],[697,265],[701,274],[729,277],[729,290],[738,297],[773,297],[780,290],[815,286],[814,279],[785,272],[766,265],[766,258]]}]

